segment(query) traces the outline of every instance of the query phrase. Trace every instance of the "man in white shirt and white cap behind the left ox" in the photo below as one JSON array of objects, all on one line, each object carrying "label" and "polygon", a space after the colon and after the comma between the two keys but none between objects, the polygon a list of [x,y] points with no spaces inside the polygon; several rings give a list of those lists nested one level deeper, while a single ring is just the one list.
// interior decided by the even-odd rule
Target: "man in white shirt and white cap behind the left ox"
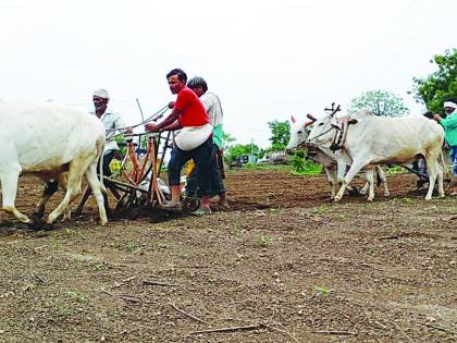
[{"label": "man in white shirt and white cap behind the left ox", "polygon": [[[110,101],[110,95],[106,89],[99,88],[95,90],[92,101],[95,110],[90,111],[89,114],[97,115],[101,120],[106,128],[107,143],[104,145],[103,151],[103,175],[111,176],[112,172],[110,169],[110,162],[112,161],[115,152],[119,151],[118,143],[114,139],[116,132],[119,131],[121,133],[127,133],[132,130],[126,128],[125,122],[122,119],[122,117],[108,107],[108,102]],[[104,181],[104,185],[111,191],[111,193],[118,200],[121,198],[121,194],[112,183]],[[83,197],[77,208],[74,211],[76,215],[82,212],[83,206],[87,201],[89,196],[90,188],[87,187],[83,194]]]}]

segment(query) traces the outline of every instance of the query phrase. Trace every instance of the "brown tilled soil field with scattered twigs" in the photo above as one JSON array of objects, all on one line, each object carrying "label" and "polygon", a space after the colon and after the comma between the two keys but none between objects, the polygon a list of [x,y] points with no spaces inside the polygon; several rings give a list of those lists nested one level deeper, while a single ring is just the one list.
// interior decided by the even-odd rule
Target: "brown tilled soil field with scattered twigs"
[{"label": "brown tilled soil field with scattered twigs", "polygon": [[[457,342],[457,199],[388,183],[332,204],[323,175],[242,170],[202,218],[2,212],[0,342]],[[41,189],[21,179],[18,209]]]}]

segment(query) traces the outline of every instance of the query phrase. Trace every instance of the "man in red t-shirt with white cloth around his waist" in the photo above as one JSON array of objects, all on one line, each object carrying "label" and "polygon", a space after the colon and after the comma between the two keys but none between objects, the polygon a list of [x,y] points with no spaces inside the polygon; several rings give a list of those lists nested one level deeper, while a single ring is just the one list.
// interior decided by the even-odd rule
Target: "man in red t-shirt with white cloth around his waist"
[{"label": "man in red t-shirt with white cloth around his waist", "polygon": [[[175,131],[183,128],[175,138],[175,145],[169,162],[169,185],[172,199],[163,205],[165,209],[181,210],[181,169],[189,159],[195,161],[199,170],[198,187],[201,194],[200,208],[196,216],[211,213],[209,207],[210,192],[210,159],[212,147],[212,126],[208,114],[197,95],[186,86],[187,75],[181,69],[174,69],[166,74],[172,94],[177,94],[173,111],[160,123],[147,123],[148,132]],[[201,174],[200,174],[201,171]]]}]

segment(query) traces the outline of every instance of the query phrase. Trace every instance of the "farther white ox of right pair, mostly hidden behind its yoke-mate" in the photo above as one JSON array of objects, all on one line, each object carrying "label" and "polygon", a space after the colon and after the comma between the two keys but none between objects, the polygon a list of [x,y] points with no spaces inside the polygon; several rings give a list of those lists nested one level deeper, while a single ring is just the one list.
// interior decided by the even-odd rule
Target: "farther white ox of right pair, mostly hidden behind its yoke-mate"
[{"label": "farther white ox of right pair, mostly hidden behind its yoke-mate", "polygon": [[[306,146],[307,138],[311,131],[308,126],[317,121],[312,117],[309,118],[312,120],[308,122],[298,122],[294,117],[291,118],[291,138],[286,147],[287,154],[292,154],[298,147]],[[308,148],[309,147],[310,145],[308,145]],[[335,187],[338,183],[343,183],[346,167],[351,164],[350,157],[344,151],[332,151],[330,149],[330,144],[328,146],[318,146],[314,144],[313,147],[316,147],[314,161],[319,164],[322,164],[322,167],[324,168],[331,187],[331,199],[334,199],[336,193]],[[387,182],[381,166],[375,166],[375,172],[378,172],[378,176],[380,177],[381,184],[384,187],[384,196],[388,196],[390,193],[387,188]],[[371,201],[374,199],[373,168],[368,168],[366,170],[366,179],[367,183],[365,184],[363,188],[360,189],[360,194],[366,194],[367,191],[369,191],[368,200]],[[349,194],[357,193],[357,189],[353,189],[350,186],[348,187],[348,191]]]}]

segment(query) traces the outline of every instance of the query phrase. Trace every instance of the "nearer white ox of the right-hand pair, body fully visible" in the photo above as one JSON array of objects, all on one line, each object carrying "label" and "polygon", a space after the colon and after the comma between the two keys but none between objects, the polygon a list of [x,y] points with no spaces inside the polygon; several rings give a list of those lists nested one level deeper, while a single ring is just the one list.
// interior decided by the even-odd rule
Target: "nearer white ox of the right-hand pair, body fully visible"
[{"label": "nearer white ox of the right-hand pair, body fully visible", "polygon": [[[351,122],[343,133],[343,149],[353,163],[343,179],[335,201],[342,199],[346,187],[362,168],[379,163],[406,164],[421,156],[425,158],[430,176],[425,199],[432,198],[436,176],[439,196],[444,197],[443,169],[437,163],[444,139],[441,125],[422,115],[386,118],[376,117],[368,110],[351,115]],[[316,122],[308,142],[326,146],[334,140],[338,131],[342,131],[342,121],[328,114]]]}]

